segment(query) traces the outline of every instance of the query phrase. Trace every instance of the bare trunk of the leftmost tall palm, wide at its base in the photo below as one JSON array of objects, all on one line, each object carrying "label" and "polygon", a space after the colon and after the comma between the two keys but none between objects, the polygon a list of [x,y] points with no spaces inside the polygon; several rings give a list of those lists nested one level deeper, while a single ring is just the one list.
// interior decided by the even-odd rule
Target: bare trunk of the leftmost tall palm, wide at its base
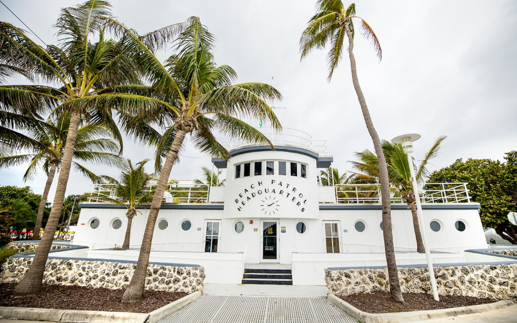
[{"label": "bare trunk of the leftmost tall palm, wide at its base", "polygon": [[16,286],[16,288],[14,288],[14,294],[16,295],[31,295],[36,294],[41,290],[45,264],[47,264],[50,247],[52,245],[52,240],[54,239],[54,231],[57,227],[59,217],[61,216],[61,210],[63,209],[63,201],[65,199],[65,191],[68,183],[68,177],[70,175],[72,155],[75,148],[75,139],[77,137],[77,130],[79,129],[80,120],[81,112],[72,112],[70,116],[70,126],[68,128],[65,152],[63,154],[63,162],[59,172],[59,178],[57,179],[56,194],[54,196],[54,202],[52,203],[52,210],[50,211],[49,220],[47,221],[47,225],[45,225],[45,230],[48,231],[48,234],[44,234],[41,238],[31,267],[25,276],[23,276],[23,279]]}]

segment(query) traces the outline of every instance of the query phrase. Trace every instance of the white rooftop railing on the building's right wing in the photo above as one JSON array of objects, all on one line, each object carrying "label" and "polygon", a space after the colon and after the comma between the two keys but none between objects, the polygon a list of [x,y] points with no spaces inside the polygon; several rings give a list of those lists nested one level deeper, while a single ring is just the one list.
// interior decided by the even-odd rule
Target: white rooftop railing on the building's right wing
[{"label": "white rooftop railing on the building's right wing", "polygon": [[[370,204],[381,203],[379,184],[339,184],[336,203]],[[421,203],[468,203],[467,183],[427,183],[420,191]],[[397,189],[391,189],[391,203],[405,203]]]}]

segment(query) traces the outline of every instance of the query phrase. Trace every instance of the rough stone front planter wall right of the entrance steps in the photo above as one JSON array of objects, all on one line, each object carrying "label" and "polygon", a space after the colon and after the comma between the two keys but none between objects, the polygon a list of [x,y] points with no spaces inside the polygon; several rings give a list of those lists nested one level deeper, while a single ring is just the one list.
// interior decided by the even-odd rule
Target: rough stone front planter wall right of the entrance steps
[{"label": "rough stone front planter wall right of the entrance steps", "polygon": [[[403,293],[432,294],[427,267],[398,270]],[[517,264],[434,267],[434,275],[439,295],[517,300]],[[389,291],[386,268],[325,269],[325,281],[335,295]]]}]

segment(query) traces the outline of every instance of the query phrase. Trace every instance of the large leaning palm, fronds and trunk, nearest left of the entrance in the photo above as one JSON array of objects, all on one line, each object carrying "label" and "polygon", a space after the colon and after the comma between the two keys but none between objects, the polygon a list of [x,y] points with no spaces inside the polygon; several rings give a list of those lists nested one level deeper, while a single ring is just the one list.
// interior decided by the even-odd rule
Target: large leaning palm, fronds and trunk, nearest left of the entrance
[{"label": "large leaning palm, fronds and trunk, nearest left of the entrance", "polygon": [[230,66],[215,64],[211,53],[214,36],[199,18],[192,17],[190,22],[179,35],[176,54],[169,57],[166,67],[156,60],[153,75],[163,77],[156,80],[153,88],[157,90],[156,95],[170,106],[156,112],[149,109],[148,116],[165,128],[157,154],[166,158],[163,165],[157,158],[155,168],[160,171],[160,177],[151,202],[138,264],[123,295],[123,302],[135,302],[142,297],[163,193],[187,134],[200,150],[228,158],[229,153],[214,136],[215,130],[247,141],[271,144],[261,132],[237,117],[262,117],[270,121],[273,128],[280,129],[280,122],[267,104],[267,100],[273,97],[280,98],[280,93],[263,83],[232,84],[237,78],[235,71]]}]

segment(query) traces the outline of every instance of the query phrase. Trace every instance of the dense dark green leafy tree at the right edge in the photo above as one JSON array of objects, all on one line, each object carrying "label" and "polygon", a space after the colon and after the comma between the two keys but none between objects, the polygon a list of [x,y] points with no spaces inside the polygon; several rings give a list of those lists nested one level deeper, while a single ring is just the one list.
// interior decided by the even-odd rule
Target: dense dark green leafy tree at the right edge
[{"label": "dense dark green leafy tree at the right edge", "polygon": [[481,205],[481,223],[517,244],[517,230],[507,218],[517,211],[517,151],[506,153],[506,163],[490,159],[462,159],[431,174],[430,182],[467,182],[472,202]]}]

